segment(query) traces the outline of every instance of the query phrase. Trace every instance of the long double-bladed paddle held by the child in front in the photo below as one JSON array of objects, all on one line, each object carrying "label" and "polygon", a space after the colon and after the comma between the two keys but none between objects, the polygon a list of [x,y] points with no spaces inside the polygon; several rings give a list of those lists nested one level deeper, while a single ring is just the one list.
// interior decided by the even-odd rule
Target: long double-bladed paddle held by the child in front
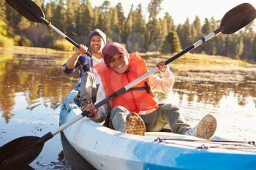
[{"label": "long double-bladed paddle held by the child in front", "polygon": [[[24,3],[26,1],[24,1]],[[12,3],[12,4],[15,4],[15,3]],[[216,36],[220,32],[222,32],[223,34],[232,34],[238,31],[240,28],[243,28],[244,26],[246,26],[255,18],[256,18],[256,10],[250,4],[247,4],[247,3],[240,4],[237,7],[230,9],[230,11],[227,12],[225,16],[222,18],[221,26],[217,28],[217,30],[211,32],[207,36],[204,36],[194,44],[182,50],[180,53],[174,55],[172,58],[169,58],[167,61],[165,61],[165,64],[168,64],[171,61],[176,60],[176,58],[180,57],[181,55],[184,55],[184,53],[187,53],[190,50],[194,49],[195,47],[202,45],[203,43],[205,43],[212,37]],[[154,74],[154,72],[157,72],[158,69],[159,69],[158,67],[151,69],[146,74],[143,74],[141,77],[138,77],[138,79],[124,86],[124,88],[117,90],[116,93],[111,94],[104,100],[95,104],[95,107],[98,108],[103,104],[105,104],[106,102],[110,101],[115,96],[118,96],[121,93],[125,93],[127,90],[129,90],[129,88],[132,88],[138,82],[144,80],[149,75]],[[37,155],[39,155],[39,152],[41,152],[42,147],[46,141],[51,139],[54,135],[58,134],[60,131],[63,131],[65,128],[69,127],[69,125],[72,125],[73,123],[80,120],[82,117],[85,117],[86,115],[88,115],[87,112],[82,112],[80,115],[77,115],[69,122],[61,125],[55,131],[48,132],[48,134],[45,134],[42,137],[23,136],[18,139],[14,139],[12,142],[4,144],[4,146],[0,147],[0,168],[12,166],[15,164],[22,165],[26,163],[31,163],[31,161],[34,161],[34,159],[37,158]]]}]

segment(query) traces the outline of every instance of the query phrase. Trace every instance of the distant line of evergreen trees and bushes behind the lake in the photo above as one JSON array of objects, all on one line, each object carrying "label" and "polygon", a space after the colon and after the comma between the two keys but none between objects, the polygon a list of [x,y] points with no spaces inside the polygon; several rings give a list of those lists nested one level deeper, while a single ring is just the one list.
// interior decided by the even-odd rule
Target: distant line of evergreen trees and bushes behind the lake
[{"label": "distant line of evergreen trees and bushes behind the lake", "polygon": [[[111,7],[110,1],[104,1],[100,7],[92,7],[89,0],[35,0],[35,3],[53,26],[76,42],[88,45],[90,31],[99,28],[107,34],[108,42],[121,42],[129,51],[176,53],[214,31],[220,23],[214,18],[201,21],[196,16],[192,22],[187,18],[185,23],[176,25],[168,12],[158,18],[162,0],[151,0],[147,8],[148,18],[143,15],[141,4],[132,5],[125,17],[121,3]],[[5,1],[0,1],[0,46],[4,46],[1,39],[5,43],[9,39],[14,45],[72,50],[72,45],[60,37],[58,39],[56,33],[41,23],[26,20]],[[236,34],[217,36],[192,53],[256,61],[256,32],[250,24]]]}]

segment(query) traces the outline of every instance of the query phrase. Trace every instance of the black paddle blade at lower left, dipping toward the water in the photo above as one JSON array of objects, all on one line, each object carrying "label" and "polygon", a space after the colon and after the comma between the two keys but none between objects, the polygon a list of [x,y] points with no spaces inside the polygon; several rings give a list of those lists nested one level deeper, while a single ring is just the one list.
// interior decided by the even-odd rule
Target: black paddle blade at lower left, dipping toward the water
[{"label": "black paddle blade at lower left, dipping toward the water", "polygon": [[37,136],[23,136],[0,147],[0,169],[29,165],[42,150],[44,142]]}]

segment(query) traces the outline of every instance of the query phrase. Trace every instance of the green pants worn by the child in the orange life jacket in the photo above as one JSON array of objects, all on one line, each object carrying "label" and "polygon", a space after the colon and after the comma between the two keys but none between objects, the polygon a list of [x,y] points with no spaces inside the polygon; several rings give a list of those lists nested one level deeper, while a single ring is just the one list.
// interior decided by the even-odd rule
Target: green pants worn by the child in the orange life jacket
[{"label": "green pants worn by the child in the orange life jacket", "polygon": [[[116,131],[125,132],[125,121],[129,111],[121,106],[114,107],[110,112],[110,123]],[[181,110],[173,104],[165,104],[154,112],[140,115],[146,125],[146,131],[160,131],[170,125],[173,133],[184,134],[190,125],[184,120]]]}]

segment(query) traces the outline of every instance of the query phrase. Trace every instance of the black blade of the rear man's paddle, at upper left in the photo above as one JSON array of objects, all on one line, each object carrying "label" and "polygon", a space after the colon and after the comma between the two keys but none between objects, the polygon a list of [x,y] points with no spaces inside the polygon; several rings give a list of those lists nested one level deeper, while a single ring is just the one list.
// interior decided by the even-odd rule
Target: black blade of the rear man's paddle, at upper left
[{"label": "black blade of the rear man's paddle, at upper left", "polygon": [[45,18],[42,9],[31,0],[6,0],[10,6],[15,9],[20,15],[23,15],[26,19],[32,22],[42,23],[40,18]]}]

